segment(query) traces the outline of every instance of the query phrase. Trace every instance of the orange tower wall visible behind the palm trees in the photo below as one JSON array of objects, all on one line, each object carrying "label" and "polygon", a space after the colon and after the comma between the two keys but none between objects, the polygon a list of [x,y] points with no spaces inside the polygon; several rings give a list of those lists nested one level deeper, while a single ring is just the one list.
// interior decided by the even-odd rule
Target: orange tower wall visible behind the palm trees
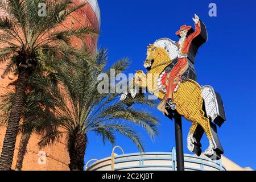
[{"label": "orange tower wall visible behind the palm trees", "polygon": [[[72,28],[72,27],[94,27],[100,28],[100,9],[97,0],[73,0],[76,5],[85,2],[86,5],[77,10],[57,28]],[[89,47],[92,54],[96,51],[98,38],[96,36],[85,36],[85,43]],[[74,46],[80,46],[79,40],[73,40]],[[9,83],[15,79],[14,76],[2,76],[6,64],[0,65],[0,94],[10,88]],[[3,139],[5,137],[6,126],[0,125],[0,154],[3,146]],[[39,150],[37,143],[42,134],[34,133],[31,135],[27,144],[27,152],[24,155],[22,170],[69,170],[69,155],[67,147],[65,146],[63,137],[60,142],[56,141],[52,146],[42,148]],[[20,135],[16,140],[14,159],[12,169],[16,166],[16,155],[18,154]]]}]

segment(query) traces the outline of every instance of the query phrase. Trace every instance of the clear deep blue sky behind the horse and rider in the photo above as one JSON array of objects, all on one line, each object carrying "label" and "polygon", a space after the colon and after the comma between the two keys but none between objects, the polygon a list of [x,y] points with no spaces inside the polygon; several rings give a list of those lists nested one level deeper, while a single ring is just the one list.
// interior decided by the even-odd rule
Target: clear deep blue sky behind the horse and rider
[{"label": "clear deep blue sky behind the horse and rider", "polygon": [[[217,17],[208,15],[208,5],[217,5]],[[218,128],[224,155],[242,167],[256,169],[256,2],[244,1],[170,1],[170,0],[99,0],[101,35],[99,46],[109,49],[109,64],[129,57],[132,64],[127,73],[144,70],[146,46],[159,38],[178,40],[175,32],[183,24],[193,26],[196,13],[208,30],[208,42],[196,57],[197,82],[212,85],[221,94],[226,123]],[[158,110],[150,110],[159,118],[159,136],[154,140],[141,132],[146,151],[170,151],[175,146],[174,122]],[[184,152],[191,122],[183,119]],[[102,144],[96,135],[89,134],[85,162],[110,156],[112,145]],[[125,153],[138,152],[129,139],[117,135],[117,145]],[[202,139],[203,151],[208,147]],[[116,151],[121,154],[120,151]]]}]

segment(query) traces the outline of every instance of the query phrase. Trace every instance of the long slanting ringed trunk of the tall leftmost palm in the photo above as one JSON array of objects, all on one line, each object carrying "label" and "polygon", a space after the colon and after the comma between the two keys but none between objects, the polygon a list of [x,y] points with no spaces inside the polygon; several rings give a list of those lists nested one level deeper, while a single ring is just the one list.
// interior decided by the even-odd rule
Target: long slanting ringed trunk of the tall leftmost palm
[{"label": "long slanting ringed trunk of the tall leftmost palm", "polygon": [[28,73],[20,71],[15,86],[13,107],[11,108],[9,122],[7,124],[5,139],[3,140],[2,154],[0,157],[0,170],[10,170],[13,163],[14,148],[18,135],[20,113],[26,96]]}]

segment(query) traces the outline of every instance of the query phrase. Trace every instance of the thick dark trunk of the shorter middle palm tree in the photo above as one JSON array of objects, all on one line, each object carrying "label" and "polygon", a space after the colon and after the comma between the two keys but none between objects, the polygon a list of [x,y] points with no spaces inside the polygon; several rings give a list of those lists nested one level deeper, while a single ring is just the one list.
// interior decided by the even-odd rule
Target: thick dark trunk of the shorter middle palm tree
[{"label": "thick dark trunk of the shorter middle palm tree", "polygon": [[70,158],[69,169],[71,171],[84,170],[84,155],[86,150],[87,136],[81,132],[69,136],[68,152]]}]

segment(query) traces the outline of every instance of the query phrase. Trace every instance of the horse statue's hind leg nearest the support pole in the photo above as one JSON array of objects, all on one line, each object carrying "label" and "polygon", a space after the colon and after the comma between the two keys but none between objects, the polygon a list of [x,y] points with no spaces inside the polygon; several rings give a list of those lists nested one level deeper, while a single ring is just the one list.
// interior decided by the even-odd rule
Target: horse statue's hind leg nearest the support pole
[{"label": "horse statue's hind leg nearest the support pole", "polygon": [[188,150],[196,154],[197,156],[201,155],[201,138],[204,134],[203,128],[197,124],[197,122],[193,122],[192,126],[188,133],[187,143]]}]

